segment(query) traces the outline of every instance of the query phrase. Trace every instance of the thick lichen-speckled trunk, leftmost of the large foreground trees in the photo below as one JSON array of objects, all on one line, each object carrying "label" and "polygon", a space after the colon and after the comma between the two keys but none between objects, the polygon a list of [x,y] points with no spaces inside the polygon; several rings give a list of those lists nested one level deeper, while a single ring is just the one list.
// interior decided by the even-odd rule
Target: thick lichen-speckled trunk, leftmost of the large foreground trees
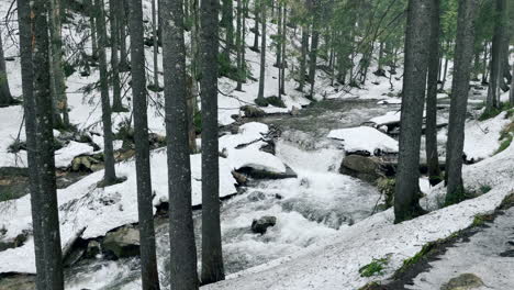
[{"label": "thick lichen-speckled trunk, leftmost of the large foreground trees", "polygon": [[[31,204],[38,289],[64,289],[57,187],[55,180],[53,101],[49,77],[48,0],[19,1],[22,86],[29,148]],[[37,244],[36,244],[37,243]]]}]

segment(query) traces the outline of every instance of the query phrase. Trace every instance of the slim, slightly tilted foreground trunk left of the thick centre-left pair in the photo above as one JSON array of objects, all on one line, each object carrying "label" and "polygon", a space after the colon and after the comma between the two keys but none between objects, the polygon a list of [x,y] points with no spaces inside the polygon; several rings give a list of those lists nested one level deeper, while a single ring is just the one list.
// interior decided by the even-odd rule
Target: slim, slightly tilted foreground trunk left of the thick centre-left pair
[{"label": "slim, slightly tilted foreground trunk left of the thick centre-left pair", "polygon": [[134,143],[137,179],[137,213],[139,217],[141,270],[144,290],[159,289],[155,247],[154,207],[146,102],[145,47],[143,5],[130,2],[132,98],[134,111]]}]

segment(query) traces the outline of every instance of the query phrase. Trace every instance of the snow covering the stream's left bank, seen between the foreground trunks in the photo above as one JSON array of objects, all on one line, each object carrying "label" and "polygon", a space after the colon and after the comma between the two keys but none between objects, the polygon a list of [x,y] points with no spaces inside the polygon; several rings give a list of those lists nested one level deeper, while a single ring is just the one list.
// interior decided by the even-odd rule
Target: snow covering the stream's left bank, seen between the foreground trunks
[{"label": "snow covering the stream's left bank, seen between the foreground trunks", "polygon": [[[165,149],[152,153],[154,205],[168,201],[168,172]],[[105,235],[110,230],[137,222],[137,191],[135,161],[116,164],[116,175],[127,180],[98,188],[103,170],[91,174],[66,189],[58,190],[62,245],[86,228],[82,238]],[[220,158],[220,197],[236,192],[235,180],[227,159]],[[201,204],[201,155],[191,155],[192,204]],[[2,239],[13,239],[24,230],[31,230],[30,196],[0,203],[0,227],[7,230]],[[32,239],[24,246],[0,252],[0,272],[35,272]]]}]

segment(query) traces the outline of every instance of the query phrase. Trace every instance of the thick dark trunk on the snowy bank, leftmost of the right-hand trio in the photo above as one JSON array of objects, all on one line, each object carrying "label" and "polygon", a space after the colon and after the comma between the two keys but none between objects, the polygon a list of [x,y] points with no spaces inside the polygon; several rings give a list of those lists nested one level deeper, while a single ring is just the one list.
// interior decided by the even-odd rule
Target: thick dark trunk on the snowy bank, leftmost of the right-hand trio
[{"label": "thick dark trunk on the snowy bank, leftmost of the right-hand trio", "polygon": [[425,104],[431,9],[423,0],[410,0],[405,34],[400,152],[394,196],[395,222],[423,213],[420,207],[420,145]]}]

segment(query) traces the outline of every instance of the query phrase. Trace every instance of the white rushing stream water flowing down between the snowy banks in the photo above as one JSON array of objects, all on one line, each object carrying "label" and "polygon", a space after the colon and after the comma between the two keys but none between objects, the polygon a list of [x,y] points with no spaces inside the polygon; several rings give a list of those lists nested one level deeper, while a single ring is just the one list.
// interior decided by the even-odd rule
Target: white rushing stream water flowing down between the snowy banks
[{"label": "white rushing stream water flowing down between the snowy banks", "polygon": [[[369,216],[380,198],[377,189],[337,172],[344,150],[325,136],[329,130],[358,126],[398,109],[377,105],[376,101],[329,100],[302,110],[298,116],[253,120],[280,129],[276,155],[298,178],[255,181],[222,204],[225,271],[234,274],[297,254]],[[277,225],[264,235],[253,233],[252,221],[265,215],[276,216]],[[200,249],[200,211],[194,212],[194,230]],[[168,234],[167,220],[158,219],[157,256],[164,287],[169,285]],[[141,288],[138,258],[82,260],[66,276],[69,289]]]}]

